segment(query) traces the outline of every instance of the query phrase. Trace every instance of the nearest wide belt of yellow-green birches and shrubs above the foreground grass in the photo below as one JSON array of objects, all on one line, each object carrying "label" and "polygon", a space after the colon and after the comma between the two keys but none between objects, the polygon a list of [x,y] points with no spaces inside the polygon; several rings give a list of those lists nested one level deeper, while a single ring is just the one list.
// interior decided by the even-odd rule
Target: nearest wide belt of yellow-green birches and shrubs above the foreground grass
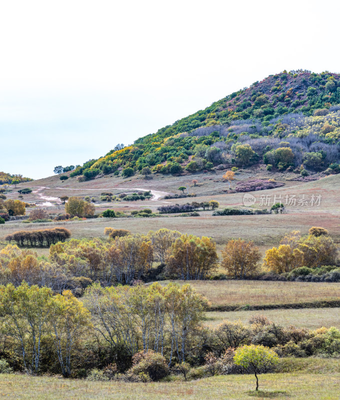
[{"label": "nearest wide belt of yellow-green birches and shrubs above the foreground grass", "polygon": [[2,357],[14,370],[125,381],[170,371],[187,378],[202,365],[203,376],[248,372],[258,385],[257,374],[272,371],[278,356],[340,350],[335,327],[308,331],[260,314],[248,324],[203,326],[206,304],[189,284],[94,283],[82,298],[27,282],[0,285]]}]

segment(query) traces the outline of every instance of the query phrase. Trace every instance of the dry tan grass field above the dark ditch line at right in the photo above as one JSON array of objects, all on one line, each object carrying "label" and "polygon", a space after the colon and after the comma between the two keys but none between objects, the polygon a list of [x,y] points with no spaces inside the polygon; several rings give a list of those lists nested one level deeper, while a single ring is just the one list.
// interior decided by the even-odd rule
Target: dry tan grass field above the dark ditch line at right
[{"label": "dry tan grass field above the dark ditch line at right", "polygon": [[[168,281],[161,283],[163,282]],[[340,299],[340,283],[191,280],[190,284],[208,299],[211,306],[287,304]]]}]

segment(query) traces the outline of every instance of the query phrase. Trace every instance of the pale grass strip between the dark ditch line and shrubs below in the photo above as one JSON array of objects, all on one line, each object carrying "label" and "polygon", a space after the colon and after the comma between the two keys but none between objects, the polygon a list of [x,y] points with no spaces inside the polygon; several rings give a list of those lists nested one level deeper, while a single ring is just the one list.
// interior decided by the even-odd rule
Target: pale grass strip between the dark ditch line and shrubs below
[{"label": "pale grass strip between the dark ditch line and shrubs below", "polygon": [[242,321],[248,323],[249,317],[262,314],[271,321],[287,326],[295,325],[306,329],[321,326],[340,328],[340,308],[300,308],[300,309],[266,309],[261,311],[209,311],[206,313],[205,325],[217,326],[221,322]]}]

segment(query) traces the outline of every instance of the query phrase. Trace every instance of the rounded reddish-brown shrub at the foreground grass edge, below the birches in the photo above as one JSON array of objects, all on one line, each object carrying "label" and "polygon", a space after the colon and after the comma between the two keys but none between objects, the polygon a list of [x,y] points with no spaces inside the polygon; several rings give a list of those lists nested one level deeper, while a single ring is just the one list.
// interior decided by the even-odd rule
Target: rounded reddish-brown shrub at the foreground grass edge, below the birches
[{"label": "rounded reddish-brown shrub at the foreground grass edge, below the birches", "polygon": [[153,350],[139,351],[132,357],[132,364],[129,372],[134,375],[145,373],[152,380],[159,380],[170,373],[165,357]]}]

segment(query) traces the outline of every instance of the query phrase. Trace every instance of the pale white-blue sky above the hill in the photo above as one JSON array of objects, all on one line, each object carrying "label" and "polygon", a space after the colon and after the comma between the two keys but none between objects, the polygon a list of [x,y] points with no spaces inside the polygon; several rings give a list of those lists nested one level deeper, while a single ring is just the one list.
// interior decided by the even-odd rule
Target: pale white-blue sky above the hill
[{"label": "pale white-blue sky above the hill", "polygon": [[0,171],[41,178],[284,69],[340,71],[338,1],[3,1]]}]

